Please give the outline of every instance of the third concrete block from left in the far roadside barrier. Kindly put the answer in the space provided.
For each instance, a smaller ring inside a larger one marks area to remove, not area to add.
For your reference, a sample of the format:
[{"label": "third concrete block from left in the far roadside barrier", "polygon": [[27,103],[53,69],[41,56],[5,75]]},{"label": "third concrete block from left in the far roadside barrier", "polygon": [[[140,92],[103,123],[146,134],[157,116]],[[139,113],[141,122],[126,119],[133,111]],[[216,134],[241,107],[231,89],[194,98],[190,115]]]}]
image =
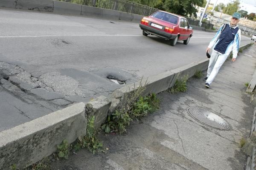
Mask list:
[{"label": "third concrete block from left in the far roadside barrier", "polygon": [[81,15],[81,5],[53,0],[53,12],[59,14]]}]

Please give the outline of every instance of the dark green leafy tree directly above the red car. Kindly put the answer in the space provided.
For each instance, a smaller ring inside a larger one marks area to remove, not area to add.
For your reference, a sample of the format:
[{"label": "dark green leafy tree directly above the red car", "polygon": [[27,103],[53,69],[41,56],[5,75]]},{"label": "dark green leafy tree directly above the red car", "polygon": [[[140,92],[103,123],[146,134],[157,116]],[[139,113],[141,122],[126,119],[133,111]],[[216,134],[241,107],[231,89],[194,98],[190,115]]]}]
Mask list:
[{"label": "dark green leafy tree directly above the red car", "polygon": [[163,8],[166,11],[187,16],[196,15],[197,9],[195,6],[202,6],[204,0],[166,0],[163,3]]}]

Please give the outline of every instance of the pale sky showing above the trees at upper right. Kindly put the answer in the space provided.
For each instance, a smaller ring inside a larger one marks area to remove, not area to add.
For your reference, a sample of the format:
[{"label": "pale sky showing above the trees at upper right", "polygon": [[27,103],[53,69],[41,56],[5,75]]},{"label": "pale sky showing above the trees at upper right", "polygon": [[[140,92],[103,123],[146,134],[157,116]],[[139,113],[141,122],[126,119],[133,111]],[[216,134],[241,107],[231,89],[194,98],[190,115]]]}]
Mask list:
[{"label": "pale sky showing above the trees at upper right", "polygon": [[[232,0],[210,0],[210,3],[231,3]],[[256,0],[240,0],[240,8],[239,10],[247,11],[248,14],[256,13]]]}]

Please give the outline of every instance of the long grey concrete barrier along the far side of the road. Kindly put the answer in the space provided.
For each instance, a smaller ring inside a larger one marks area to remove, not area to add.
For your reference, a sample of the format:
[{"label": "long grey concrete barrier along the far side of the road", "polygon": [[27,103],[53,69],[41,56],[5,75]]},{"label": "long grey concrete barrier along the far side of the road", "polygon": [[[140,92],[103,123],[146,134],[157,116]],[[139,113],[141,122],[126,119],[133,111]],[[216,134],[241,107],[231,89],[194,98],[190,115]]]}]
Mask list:
[{"label": "long grey concrete barrier along the far side of the road", "polygon": [[[85,17],[100,17],[105,19],[132,21],[136,23],[144,17],[143,15],[131,14],[128,12],[85,6],[58,0],[0,0],[0,8],[1,7],[53,12],[56,14],[82,15]],[[205,30],[204,27],[193,27],[195,30]]]}]

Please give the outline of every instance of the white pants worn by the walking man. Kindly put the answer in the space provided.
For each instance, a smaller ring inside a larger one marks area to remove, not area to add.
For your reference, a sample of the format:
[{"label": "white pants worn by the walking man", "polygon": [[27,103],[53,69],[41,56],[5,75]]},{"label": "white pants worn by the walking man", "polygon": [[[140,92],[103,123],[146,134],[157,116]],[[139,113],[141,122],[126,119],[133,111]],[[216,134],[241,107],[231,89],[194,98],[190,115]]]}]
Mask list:
[{"label": "white pants worn by the walking man", "polygon": [[226,61],[227,57],[228,54],[218,54],[216,51],[212,51],[212,55],[207,70],[208,79],[206,80],[206,82],[209,83],[209,85],[215,79],[219,69],[221,68],[221,65],[223,65],[223,63]]}]

